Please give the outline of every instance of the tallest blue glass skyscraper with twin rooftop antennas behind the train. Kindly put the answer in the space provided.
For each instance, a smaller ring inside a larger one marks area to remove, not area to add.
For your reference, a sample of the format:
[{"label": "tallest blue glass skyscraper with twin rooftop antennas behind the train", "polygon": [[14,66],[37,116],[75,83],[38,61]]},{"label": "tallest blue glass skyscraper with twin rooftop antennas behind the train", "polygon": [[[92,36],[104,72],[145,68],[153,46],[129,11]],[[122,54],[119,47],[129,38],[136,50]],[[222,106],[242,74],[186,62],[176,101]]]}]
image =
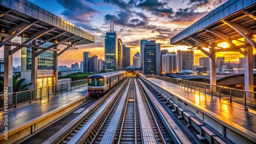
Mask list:
[{"label": "tallest blue glass skyscraper with twin rooftop antennas behind the train", "polygon": [[111,29],[105,36],[105,69],[116,71],[118,69],[118,41],[116,31]]}]

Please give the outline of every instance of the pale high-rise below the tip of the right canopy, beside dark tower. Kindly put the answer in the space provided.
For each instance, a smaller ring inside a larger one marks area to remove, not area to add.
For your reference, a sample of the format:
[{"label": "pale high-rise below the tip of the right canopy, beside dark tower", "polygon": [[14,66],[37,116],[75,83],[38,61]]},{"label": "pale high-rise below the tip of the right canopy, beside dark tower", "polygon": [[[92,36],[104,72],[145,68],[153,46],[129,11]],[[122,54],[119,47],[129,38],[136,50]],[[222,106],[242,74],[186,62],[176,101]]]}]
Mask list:
[{"label": "pale high-rise below the tip of the right canopy, beside dark tower", "polygon": [[165,71],[166,73],[177,73],[176,53],[165,54]]}]

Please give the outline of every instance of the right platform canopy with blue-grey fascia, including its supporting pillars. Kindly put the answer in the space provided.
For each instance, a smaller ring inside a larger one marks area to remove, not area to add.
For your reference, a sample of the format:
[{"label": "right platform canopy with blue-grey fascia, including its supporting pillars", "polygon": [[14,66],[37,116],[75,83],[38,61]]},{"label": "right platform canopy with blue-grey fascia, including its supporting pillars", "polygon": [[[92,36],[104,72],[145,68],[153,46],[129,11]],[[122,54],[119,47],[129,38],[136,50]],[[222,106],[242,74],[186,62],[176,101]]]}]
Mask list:
[{"label": "right platform canopy with blue-grey fascia, including its supporting pillars", "polygon": [[[253,91],[253,47],[256,48],[256,2],[230,0],[170,38],[210,58],[210,84],[216,85],[216,53],[237,52],[245,58],[245,90]],[[229,47],[223,48],[226,42]]]}]

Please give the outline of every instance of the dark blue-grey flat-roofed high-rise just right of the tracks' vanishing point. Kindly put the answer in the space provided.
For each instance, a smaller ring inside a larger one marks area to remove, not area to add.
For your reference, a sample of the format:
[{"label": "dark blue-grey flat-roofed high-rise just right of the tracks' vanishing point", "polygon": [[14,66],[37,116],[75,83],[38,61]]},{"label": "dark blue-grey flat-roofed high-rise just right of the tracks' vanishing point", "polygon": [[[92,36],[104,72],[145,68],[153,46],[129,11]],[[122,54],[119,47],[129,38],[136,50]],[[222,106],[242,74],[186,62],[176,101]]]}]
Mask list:
[{"label": "dark blue-grey flat-roofed high-rise just right of the tracks' vanishing point", "polygon": [[143,46],[143,73],[145,75],[161,74],[161,44],[155,40],[148,41]]}]

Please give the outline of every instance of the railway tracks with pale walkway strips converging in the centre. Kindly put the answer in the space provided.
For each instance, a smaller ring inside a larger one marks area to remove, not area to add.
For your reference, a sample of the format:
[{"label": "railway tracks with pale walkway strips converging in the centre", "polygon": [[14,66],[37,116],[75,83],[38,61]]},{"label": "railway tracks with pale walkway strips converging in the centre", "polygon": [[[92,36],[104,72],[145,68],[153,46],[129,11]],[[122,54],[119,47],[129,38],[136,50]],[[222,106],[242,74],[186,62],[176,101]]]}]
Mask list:
[{"label": "railway tracks with pale walkway strips converging in the centre", "polygon": [[44,143],[174,143],[137,79],[126,79]]}]

